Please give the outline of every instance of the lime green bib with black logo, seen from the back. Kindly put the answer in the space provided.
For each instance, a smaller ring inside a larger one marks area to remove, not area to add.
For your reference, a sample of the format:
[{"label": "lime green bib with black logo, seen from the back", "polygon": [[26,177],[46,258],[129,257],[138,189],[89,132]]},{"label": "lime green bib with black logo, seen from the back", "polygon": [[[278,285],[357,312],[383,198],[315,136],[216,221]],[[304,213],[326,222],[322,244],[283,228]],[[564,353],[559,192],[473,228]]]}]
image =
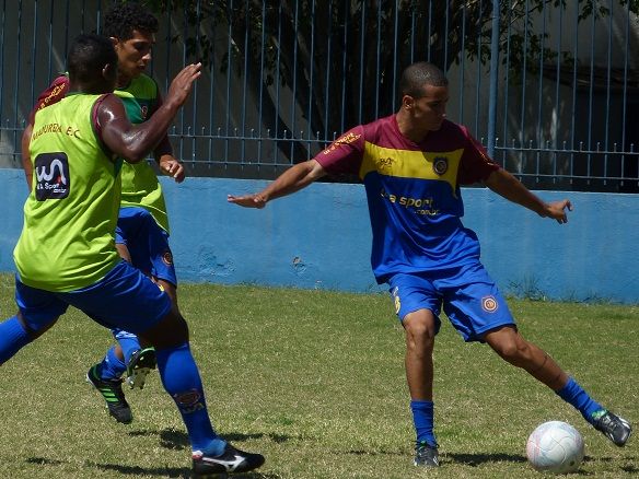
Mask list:
[{"label": "lime green bib with black logo, seen from the back", "polygon": [[66,292],[95,283],[119,261],[115,225],[119,161],[98,140],[100,95],[72,94],[35,115],[34,188],[13,252],[20,280]]}]

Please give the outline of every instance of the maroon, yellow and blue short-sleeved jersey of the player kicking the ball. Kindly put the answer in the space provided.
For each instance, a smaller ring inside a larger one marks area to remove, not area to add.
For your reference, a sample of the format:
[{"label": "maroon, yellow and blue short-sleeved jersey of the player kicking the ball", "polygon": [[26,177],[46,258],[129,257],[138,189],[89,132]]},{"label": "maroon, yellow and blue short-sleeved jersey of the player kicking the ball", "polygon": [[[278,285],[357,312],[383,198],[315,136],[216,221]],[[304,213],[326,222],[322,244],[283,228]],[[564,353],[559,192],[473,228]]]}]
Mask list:
[{"label": "maroon, yellow and blue short-sleeved jersey of the player kicking the ball", "polygon": [[362,179],[377,282],[479,257],[477,236],[461,221],[460,186],[486,179],[499,165],[465,127],[444,120],[418,144],[402,135],[392,115],[347,131],[315,160],[329,174]]}]

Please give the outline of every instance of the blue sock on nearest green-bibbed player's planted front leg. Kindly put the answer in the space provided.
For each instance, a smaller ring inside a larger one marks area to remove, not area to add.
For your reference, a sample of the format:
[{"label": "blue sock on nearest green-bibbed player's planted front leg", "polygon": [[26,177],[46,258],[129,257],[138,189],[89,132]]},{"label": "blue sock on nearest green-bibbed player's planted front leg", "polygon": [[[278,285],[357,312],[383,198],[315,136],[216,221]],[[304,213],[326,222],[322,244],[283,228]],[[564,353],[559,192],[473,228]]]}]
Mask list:
[{"label": "blue sock on nearest green-bibbed player's planted front leg", "polygon": [[193,451],[213,456],[222,454],[226,442],[211,425],[202,383],[188,343],[156,350],[155,357],[162,384],[182,414]]}]

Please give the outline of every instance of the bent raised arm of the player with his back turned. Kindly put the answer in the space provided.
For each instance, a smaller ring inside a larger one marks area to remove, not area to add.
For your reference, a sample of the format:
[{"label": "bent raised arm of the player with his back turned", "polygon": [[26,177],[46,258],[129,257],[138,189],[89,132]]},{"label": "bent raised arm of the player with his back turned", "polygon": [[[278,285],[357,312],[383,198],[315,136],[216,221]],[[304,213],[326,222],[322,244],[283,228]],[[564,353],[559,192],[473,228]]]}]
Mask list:
[{"label": "bent raised arm of the player with his back turned", "polygon": [[139,125],[131,125],[117,96],[106,95],[97,109],[105,144],[131,163],[146,159],[166,136],[175,114],[190,94],[193,83],[200,77],[200,68],[201,63],[191,63],[177,73],[171,83],[166,101],[148,121]]}]

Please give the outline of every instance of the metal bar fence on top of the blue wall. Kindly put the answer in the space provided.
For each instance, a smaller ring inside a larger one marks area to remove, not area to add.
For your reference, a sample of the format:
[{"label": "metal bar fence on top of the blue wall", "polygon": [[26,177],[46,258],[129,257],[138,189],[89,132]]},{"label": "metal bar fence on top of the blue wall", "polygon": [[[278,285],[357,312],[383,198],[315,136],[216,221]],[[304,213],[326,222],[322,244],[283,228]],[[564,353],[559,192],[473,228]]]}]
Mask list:
[{"label": "metal bar fence on top of the blue wall", "polygon": [[[112,3],[1,3],[1,165],[20,167],[34,100]],[[170,131],[190,174],[272,178],[392,114],[402,69],[428,60],[448,72],[449,118],[528,186],[639,192],[636,0],[149,3],[159,83],[206,65]]]}]

